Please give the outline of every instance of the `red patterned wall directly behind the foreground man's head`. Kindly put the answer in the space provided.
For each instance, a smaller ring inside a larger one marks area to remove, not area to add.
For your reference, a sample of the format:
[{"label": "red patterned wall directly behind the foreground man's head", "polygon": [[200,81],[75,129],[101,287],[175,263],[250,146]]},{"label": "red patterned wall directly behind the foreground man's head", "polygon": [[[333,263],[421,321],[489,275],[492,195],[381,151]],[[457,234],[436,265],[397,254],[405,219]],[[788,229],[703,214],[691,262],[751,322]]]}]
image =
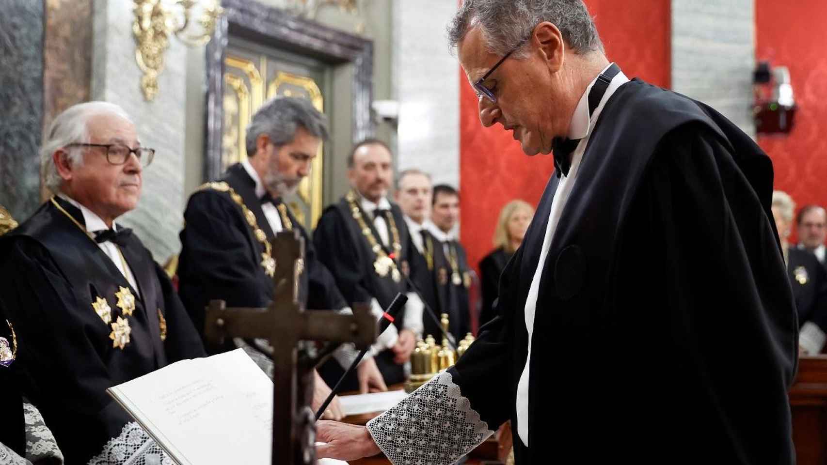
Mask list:
[{"label": "red patterned wall directly behind the foreground man's head", "polygon": [[[606,54],[629,78],[662,87],[671,73],[669,0],[586,0]],[[498,126],[484,128],[477,99],[460,69],[461,240],[477,266],[493,249],[500,209],[514,198],[537,205],[554,170],[551,155],[528,158],[519,142]]]}]

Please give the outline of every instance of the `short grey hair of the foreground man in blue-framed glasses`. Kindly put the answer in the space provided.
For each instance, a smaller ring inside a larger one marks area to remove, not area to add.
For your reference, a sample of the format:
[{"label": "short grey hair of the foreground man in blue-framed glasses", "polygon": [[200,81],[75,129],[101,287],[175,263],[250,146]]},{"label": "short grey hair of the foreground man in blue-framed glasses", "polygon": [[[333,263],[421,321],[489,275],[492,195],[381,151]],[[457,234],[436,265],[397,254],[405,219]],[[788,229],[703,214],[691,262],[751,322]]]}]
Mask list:
[{"label": "short grey hair of the foreground man in blue-framed glasses", "polygon": [[[448,25],[448,40],[455,49],[468,31],[480,26],[485,48],[505,55],[543,21],[557,26],[575,53],[605,53],[595,21],[582,0],[465,0]],[[523,45],[513,56],[524,58],[525,50]]]}]

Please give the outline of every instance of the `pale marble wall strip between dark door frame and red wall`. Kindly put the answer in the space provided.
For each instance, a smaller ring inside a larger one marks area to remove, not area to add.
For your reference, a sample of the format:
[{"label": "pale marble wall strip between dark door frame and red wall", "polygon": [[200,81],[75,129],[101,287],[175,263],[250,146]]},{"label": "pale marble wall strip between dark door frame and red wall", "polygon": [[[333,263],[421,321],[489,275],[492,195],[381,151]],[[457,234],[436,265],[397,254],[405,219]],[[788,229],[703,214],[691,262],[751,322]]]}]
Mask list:
[{"label": "pale marble wall strip between dark door frame and red wall", "polygon": [[460,70],[445,27],[457,2],[394,3],[394,95],[399,102],[399,169],[460,187]]}]

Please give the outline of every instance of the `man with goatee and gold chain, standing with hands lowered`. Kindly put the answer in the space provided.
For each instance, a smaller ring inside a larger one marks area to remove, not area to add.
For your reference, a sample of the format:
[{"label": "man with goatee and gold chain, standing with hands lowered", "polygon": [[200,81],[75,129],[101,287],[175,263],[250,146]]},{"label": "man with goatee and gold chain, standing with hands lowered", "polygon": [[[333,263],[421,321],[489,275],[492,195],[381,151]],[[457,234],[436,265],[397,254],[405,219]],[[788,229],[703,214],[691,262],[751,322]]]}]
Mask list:
[{"label": "man with goatee and gold chain, standing with hands lowered", "polygon": [[[373,347],[388,385],[404,381],[404,364],[423,330],[423,303],[408,283],[416,266],[410,261],[414,245],[399,206],[385,197],[391,160],[390,149],[380,140],[356,144],[347,159],[351,191],[325,209],[313,233],[319,260],[351,305],[368,303],[378,317],[397,293],[408,293],[408,303]],[[331,363],[320,372],[328,382],[342,375],[341,368]],[[355,380],[351,377],[344,386],[355,387]]]}]

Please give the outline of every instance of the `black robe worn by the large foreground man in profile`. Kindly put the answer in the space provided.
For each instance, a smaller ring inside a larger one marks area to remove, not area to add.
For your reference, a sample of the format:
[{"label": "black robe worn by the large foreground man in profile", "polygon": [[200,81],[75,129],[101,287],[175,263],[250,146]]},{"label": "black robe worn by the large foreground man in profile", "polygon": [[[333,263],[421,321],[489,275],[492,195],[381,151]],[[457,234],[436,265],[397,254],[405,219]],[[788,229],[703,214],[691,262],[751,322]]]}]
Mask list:
[{"label": "black robe worn by the large foreground man in profile", "polygon": [[609,98],[543,268],[530,447],[515,398],[556,176],[495,320],[449,370],[490,429],[512,420],[517,463],[795,463],[798,324],[772,176],[758,145],[700,102],[638,79]]}]

